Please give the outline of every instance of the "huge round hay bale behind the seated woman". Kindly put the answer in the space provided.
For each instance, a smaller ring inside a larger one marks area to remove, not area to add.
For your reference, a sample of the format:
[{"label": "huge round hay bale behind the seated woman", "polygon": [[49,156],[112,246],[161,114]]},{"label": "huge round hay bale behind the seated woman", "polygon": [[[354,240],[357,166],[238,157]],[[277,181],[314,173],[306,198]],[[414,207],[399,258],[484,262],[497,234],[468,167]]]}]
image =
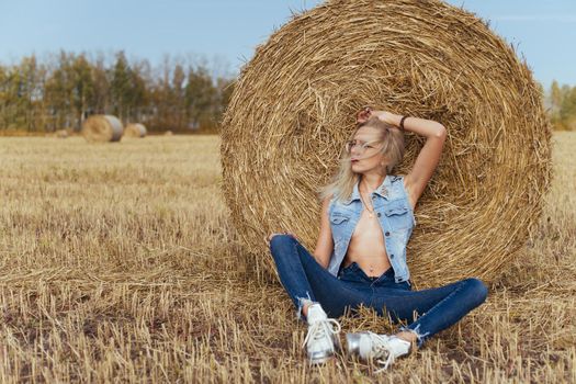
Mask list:
[{"label": "huge round hay bale behind the seated woman", "polygon": [[[512,47],[436,0],[327,1],[257,48],[234,89],[221,148],[225,200],[246,249],[269,268],[269,233],[291,230],[314,249],[316,190],[366,104],[448,129],[407,250],[418,286],[493,281],[539,219],[551,126]],[[408,173],[423,143],[407,133],[393,173]]]}]

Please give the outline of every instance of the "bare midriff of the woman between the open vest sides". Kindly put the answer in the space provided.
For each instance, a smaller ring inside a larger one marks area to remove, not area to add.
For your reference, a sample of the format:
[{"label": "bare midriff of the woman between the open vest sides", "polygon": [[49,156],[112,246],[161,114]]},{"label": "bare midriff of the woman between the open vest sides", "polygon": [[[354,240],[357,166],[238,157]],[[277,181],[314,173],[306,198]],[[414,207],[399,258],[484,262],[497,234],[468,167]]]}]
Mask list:
[{"label": "bare midriff of the woman between the open vest sides", "polygon": [[355,262],[368,276],[376,278],[391,268],[384,236],[376,215],[362,211],[354,228],[342,266]]}]

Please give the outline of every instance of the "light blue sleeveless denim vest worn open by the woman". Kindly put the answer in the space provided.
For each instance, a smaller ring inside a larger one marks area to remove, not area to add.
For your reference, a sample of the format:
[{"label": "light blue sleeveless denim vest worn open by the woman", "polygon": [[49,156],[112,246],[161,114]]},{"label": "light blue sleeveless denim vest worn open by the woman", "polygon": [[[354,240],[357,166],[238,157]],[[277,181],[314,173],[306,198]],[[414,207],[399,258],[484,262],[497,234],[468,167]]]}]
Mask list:
[{"label": "light blue sleeveless denim vest worn open by the woman", "polygon": [[[394,269],[394,279],[396,283],[408,281],[410,272],[406,263],[406,245],[416,225],[416,218],[404,189],[404,176],[387,174],[382,184],[372,192],[372,205],[382,227],[386,253]],[[335,276],[338,275],[346,257],[362,210],[358,183],[348,200],[338,201],[332,197],[330,201],[328,213],[334,250],[328,272]]]}]

